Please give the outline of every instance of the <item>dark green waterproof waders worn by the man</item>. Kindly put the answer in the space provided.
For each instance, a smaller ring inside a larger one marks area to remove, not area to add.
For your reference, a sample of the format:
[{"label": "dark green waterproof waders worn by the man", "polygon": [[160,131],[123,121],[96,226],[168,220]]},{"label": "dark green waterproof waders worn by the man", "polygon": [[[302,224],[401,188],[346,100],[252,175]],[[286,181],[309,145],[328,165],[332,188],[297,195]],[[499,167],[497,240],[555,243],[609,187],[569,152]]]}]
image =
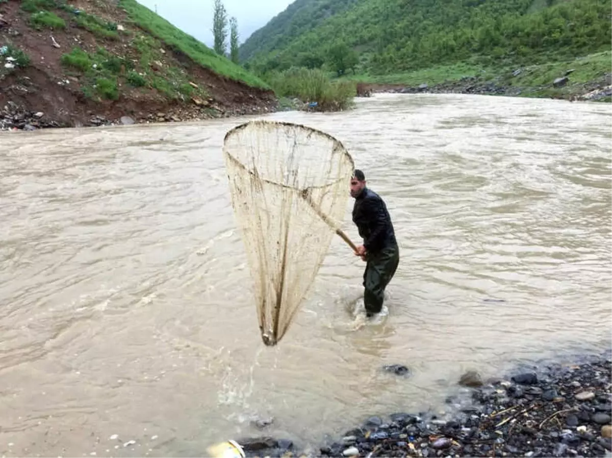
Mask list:
[{"label": "dark green waterproof waders worn by the man", "polygon": [[400,248],[387,246],[376,253],[368,253],[364,271],[364,304],[368,313],[378,313],[383,308],[384,290],[395,275],[400,263]]}]

